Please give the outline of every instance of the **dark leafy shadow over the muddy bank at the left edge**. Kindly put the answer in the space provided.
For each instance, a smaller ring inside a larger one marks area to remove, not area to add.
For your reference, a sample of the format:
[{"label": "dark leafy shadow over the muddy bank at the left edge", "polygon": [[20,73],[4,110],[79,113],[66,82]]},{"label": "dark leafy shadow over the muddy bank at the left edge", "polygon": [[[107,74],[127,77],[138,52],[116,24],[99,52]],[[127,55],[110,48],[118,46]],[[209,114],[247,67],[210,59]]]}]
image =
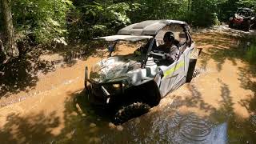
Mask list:
[{"label": "dark leafy shadow over the muddy bank at the left edge", "polygon": [[0,66],[0,98],[4,95],[27,91],[36,86],[38,72],[46,74],[54,70],[54,62],[40,60],[41,52],[14,58]]}]

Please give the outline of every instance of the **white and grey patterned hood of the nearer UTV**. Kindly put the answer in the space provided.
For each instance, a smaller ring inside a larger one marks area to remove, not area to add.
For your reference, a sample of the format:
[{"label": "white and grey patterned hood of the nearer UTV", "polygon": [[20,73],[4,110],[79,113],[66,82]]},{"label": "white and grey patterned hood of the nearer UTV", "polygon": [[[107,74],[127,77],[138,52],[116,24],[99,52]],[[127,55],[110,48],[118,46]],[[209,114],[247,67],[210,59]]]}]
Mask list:
[{"label": "white and grey patterned hood of the nearer UTV", "polygon": [[126,81],[136,85],[142,80],[154,78],[157,65],[149,60],[146,66],[150,70],[142,69],[140,62],[110,57],[92,67],[90,79],[98,83]]}]

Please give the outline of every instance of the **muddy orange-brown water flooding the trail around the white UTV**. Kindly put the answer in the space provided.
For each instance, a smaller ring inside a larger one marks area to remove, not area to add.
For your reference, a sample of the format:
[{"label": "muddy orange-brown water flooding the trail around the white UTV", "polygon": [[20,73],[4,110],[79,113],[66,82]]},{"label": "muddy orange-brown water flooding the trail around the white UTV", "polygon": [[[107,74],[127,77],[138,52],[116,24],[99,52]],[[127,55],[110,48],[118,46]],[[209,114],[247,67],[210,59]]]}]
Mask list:
[{"label": "muddy orange-brown water flooding the trail around the white UTV", "polygon": [[226,28],[194,34],[203,48],[198,75],[122,126],[83,94],[84,67],[98,55],[39,74],[33,89],[0,100],[15,101],[0,108],[1,143],[256,143],[256,67],[243,60],[244,35]]}]

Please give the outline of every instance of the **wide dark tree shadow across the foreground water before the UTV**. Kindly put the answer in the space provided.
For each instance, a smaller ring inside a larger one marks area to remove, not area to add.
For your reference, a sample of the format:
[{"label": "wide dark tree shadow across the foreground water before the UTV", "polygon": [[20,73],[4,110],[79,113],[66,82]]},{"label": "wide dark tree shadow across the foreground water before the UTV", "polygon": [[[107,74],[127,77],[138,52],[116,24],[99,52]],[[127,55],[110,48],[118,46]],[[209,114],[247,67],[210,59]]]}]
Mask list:
[{"label": "wide dark tree shadow across the foreground water before the UTV", "polygon": [[[255,142],[253,135],[248,135],[254,134],[249,121],[232,113],[233,103],[225,83],[222,83],[220,110],[206,104],[195,86],[191,85],[190,89],[193,100],[182,102],[175,98],[173,104],[164,109],[151,110],[122,126],[114,126],[106,111],[90,106],[83,91],[70,94],[71,98],[65,102],[63,119],[55,112],[26,117],[10,114],[0,130],[0,139],[2,143],[225,143],[228,126],[229,139],[232,139],[229,142]],[[210,112],[210,118],[180,113],[182,106],[206,110]],[[62,129],[56,134],[58,127]],[[238,130],[245,135],[238,134]]]}]

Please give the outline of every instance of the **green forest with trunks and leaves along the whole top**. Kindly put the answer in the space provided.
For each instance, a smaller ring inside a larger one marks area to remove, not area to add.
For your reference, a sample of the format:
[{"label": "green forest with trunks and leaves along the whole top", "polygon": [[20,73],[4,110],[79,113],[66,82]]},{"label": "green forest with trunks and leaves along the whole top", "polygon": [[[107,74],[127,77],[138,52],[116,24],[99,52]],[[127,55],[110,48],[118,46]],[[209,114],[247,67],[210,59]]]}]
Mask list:
[{"label": "green forest with trunks and leaves along the whole top", "polygon": [[238,7],[256,9],[254,0],[1,0],[0,63],[53,43],[90,44],[146,19],[178,19],[192,27],[227,22]]}]

